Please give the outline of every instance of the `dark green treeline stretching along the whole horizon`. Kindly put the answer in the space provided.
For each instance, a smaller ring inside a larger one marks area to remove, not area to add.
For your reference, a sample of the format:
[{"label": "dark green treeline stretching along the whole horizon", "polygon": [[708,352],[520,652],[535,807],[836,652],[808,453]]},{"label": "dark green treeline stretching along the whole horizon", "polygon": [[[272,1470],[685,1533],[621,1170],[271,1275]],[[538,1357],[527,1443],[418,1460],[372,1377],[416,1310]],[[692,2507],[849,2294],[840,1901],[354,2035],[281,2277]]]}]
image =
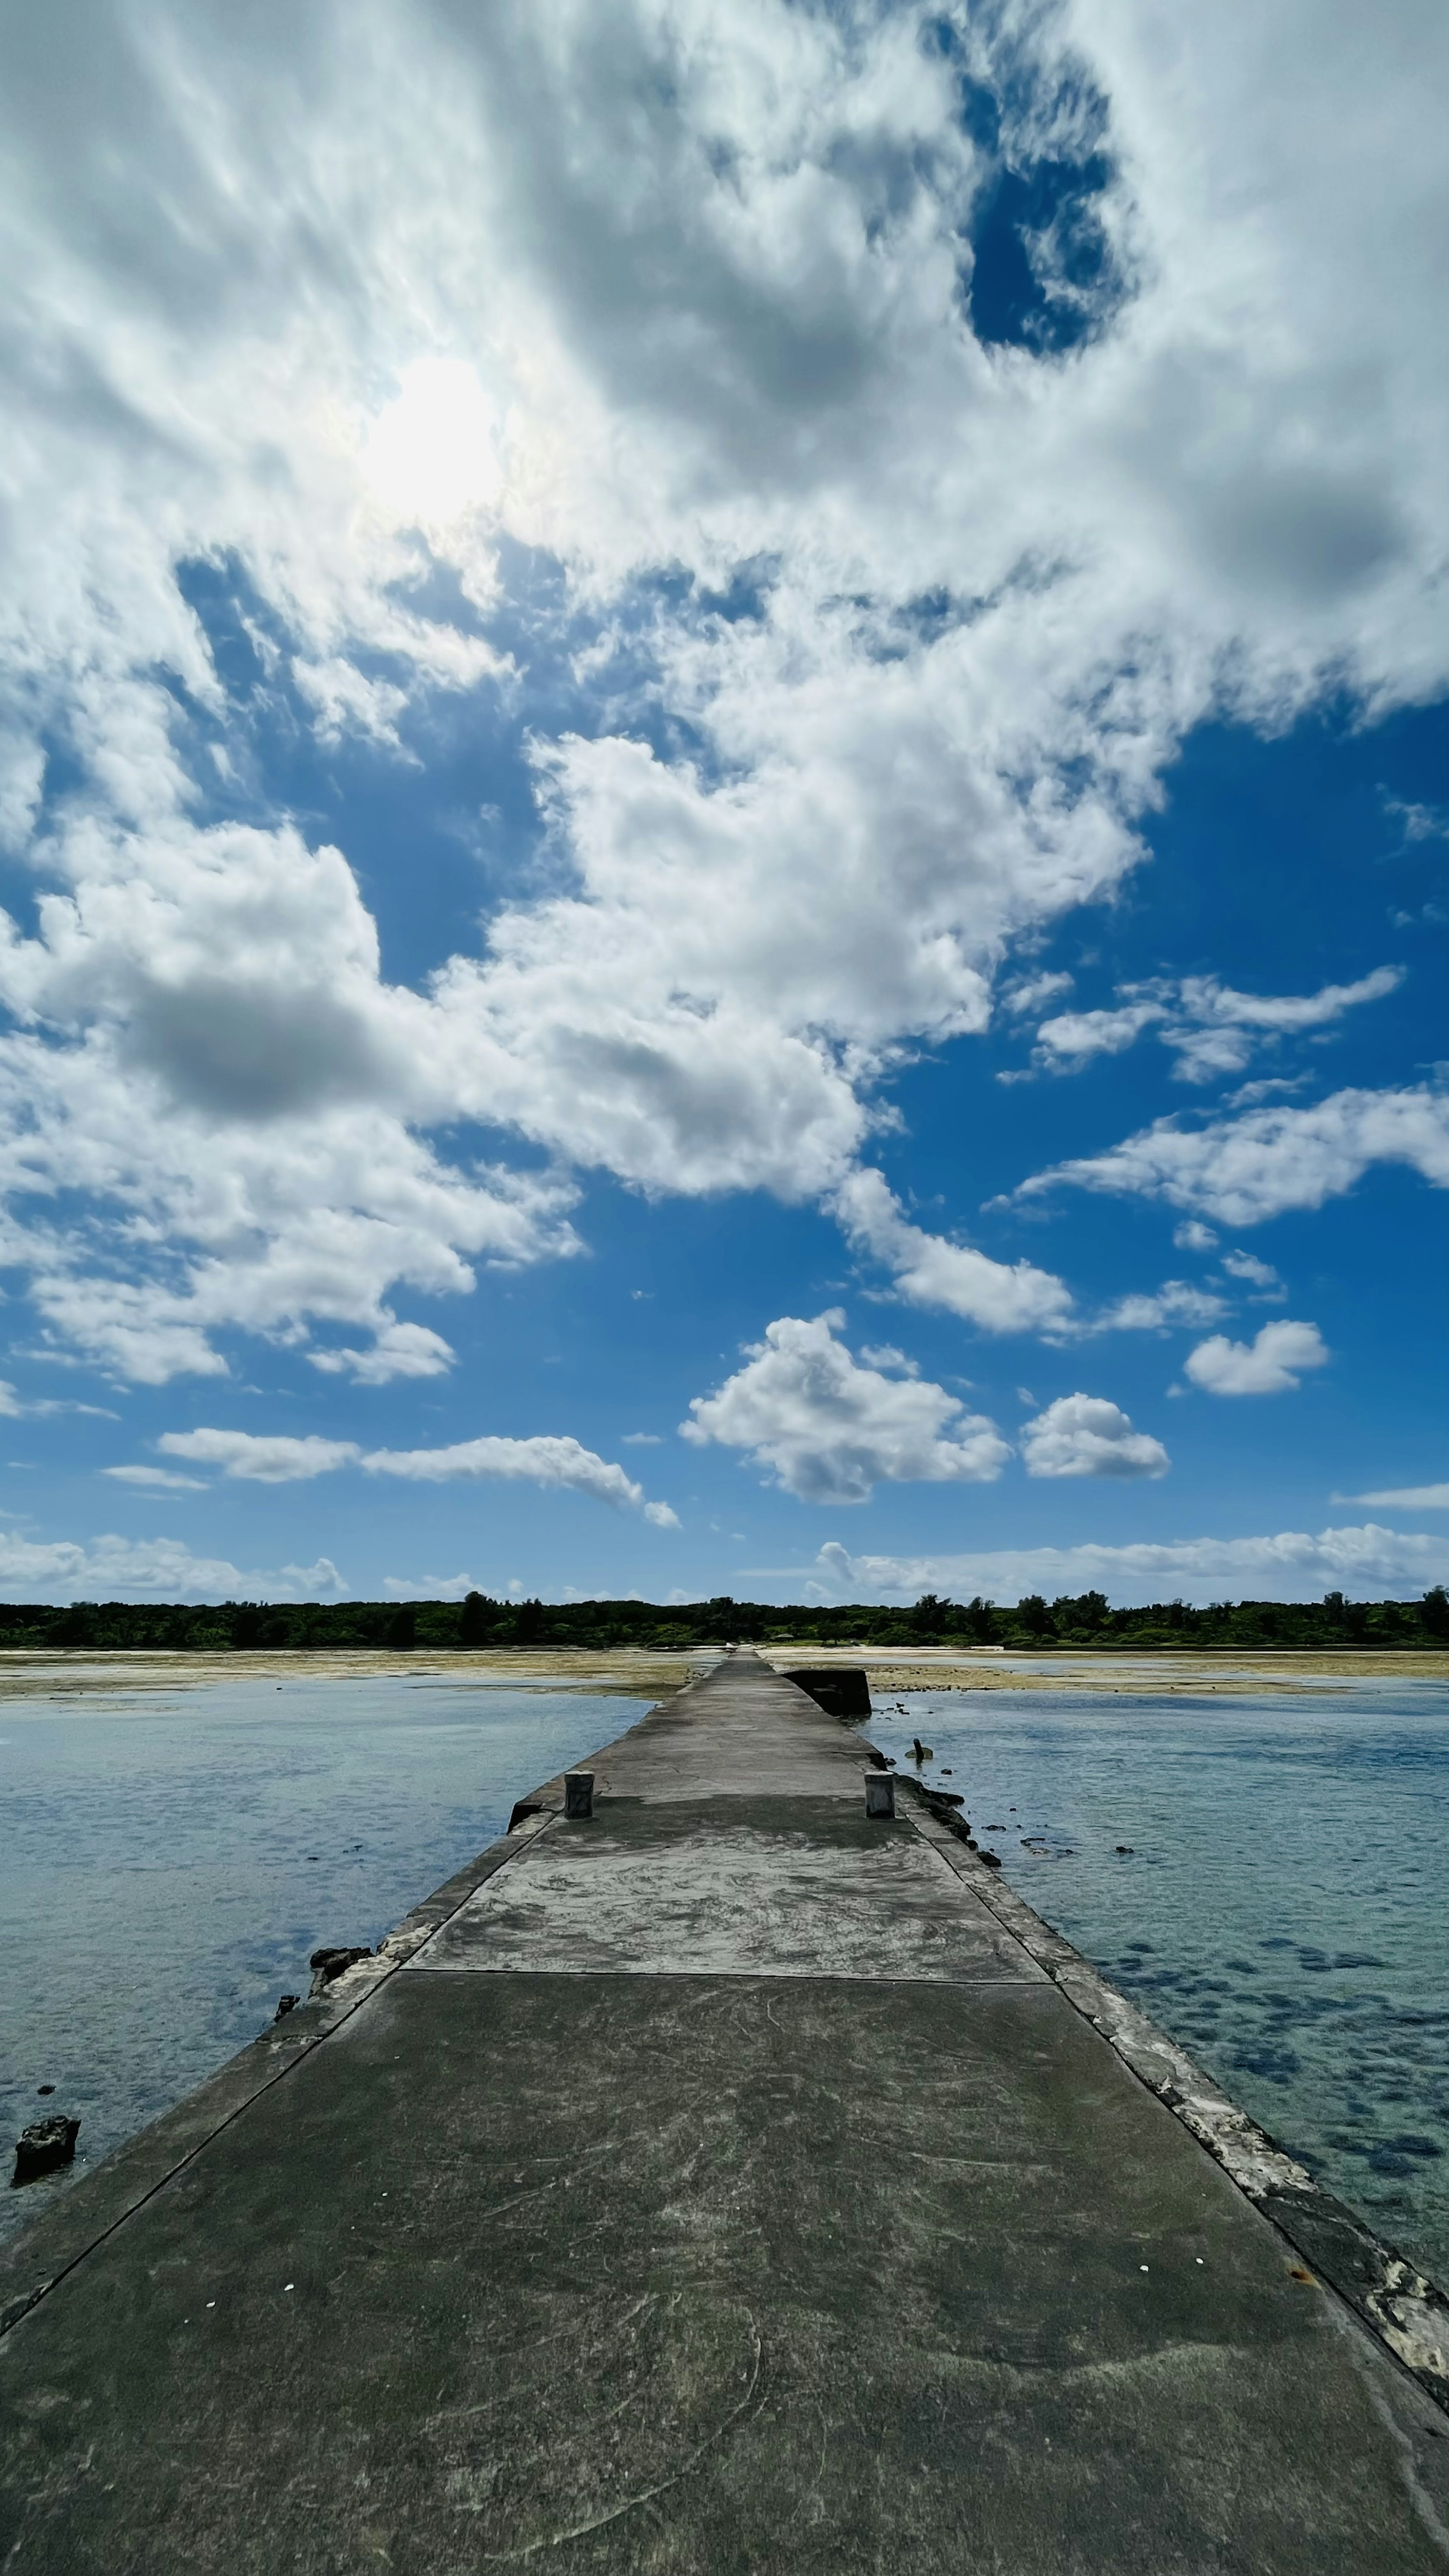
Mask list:
[{"label": "dark green treeline stretching along the whole horizon", "polygon": [[681,1651],[724,1638],[802,1646],[1441,1646],[1449,1643],[1444,1584],[1418,1602],[1152,1602],[1111,1610],[1106,1592],[1029,1592],[1016,1607],[949,1602],[926,1592],[913,1610],[869,1605],[735,1602],[0,1602],[0,1649],[152,1646],[191,1654],[258,1649],[335,1651],[374,1646],[394,1654],[490,1646],[657,1646]]}]

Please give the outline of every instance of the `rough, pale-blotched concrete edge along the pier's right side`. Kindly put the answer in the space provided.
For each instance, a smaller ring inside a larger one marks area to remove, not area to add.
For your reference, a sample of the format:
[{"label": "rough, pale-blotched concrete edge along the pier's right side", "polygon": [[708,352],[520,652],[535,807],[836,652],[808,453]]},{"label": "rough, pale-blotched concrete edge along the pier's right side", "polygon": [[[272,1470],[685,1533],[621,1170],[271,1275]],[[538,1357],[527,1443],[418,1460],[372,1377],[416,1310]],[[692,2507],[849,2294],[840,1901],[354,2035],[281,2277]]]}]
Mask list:
[{"label": "rough, pale-blotched concrete edge along the pier's right side", "polygon": [[[905,1788],[915,1790],[923,1803],[928,1793],[915,1780],[905,1780]],[[941,1819],[931,1811],[931,1821],[941,1832]],[[998,1901],[998,1883],[987,1870],[949,1847],[949,1829],[941,1839],[931,1834],[920,1816],[910,1816],[913,1829],[920,1839],[941,1855],[954,1878],[962,1880],[980,1896],[990,1914],[1000,1922],[1026,1958],[1034,1958],[1039,1968],[1047,1971],[1057,1994],[1067,1999],[1073,2012],[1088,2022],[1098,2038],[1106,2040],[1111,2053],[1127,2066],[1127,2074],[1152,2094],[1165,2110],[1171,2110],[1178,2128],[1186,2128],[1189,2138],[1212,2156],[1212,2161],[1227,2174],[1232,2187],[1243,2192],[1245,2200],[1269,2221],[1269,2226],[1302,2254],[1323,2285],[1369,2329],[1377,2344],[1392,2354],[1400,2370],[1434,2398],[1439,2409],[1449,2414],[1449,2298],[1439,2290],[1418,2264],[1410,2264],[1403,2254],[1377,2236],[1348,2202],[1325,2192],[1315,2177],[1297,2164],[1297,2159],[1284,2156],[1284,2151],[1258,2128],[1248,2112],[1238,2110],[1230,2094],[1207,2076],[1186,2048],[1178,2045],[1165,2030],[1158,2030],[1147,2014],[1111,1986],[1101,1968],[1093,1968],[1080,1950],[1075,1950],[1062,1932],[1055,1932],[1013,1886],[1003,1886],[1011,1896],[1011,1909]],[[1026,1929],[1011,1917],[1021,1911],[1026,1917]],[[1034,1940],[1031,1935],[1039,1935]],[[1070,1978],[1070,1984],[1067,1984]],[[1080,1991],[1073,1991],[1078,1986]],[[1106,2007],[1106,2012],[1101,2009]],[[1109,2017],[1119,2014],[1116,2025]],[[1178,2084],[1155,2084],[1142,2066],[1134,2063],[1134,2045],[1155,2048],[1160,2056],[1181,2071],[1191,2089],[1178,2092]],[[1212,2117],[1207,2112],[1212,2110]],[[1196,2112],[1196,2115],[1194,2115]],[[1258,2179],[1250,2179],[1253,2166],[1258,2166]],[[1266,2166],[1266,2172],[1263,2172]],[[1276,2174],[1274,2166],[1284,2172]],[[1297,2221],[1297,2223],[1294,2223]],[[1343,2259],[1336,2249],[1325,2246],[1325,2236],[1341,2236],[1348,2241],[1348,2257],[1359,2257],[1359,2264],[1372,2275],[1369,2282],[1356,2277],[1354,2259]]]}]

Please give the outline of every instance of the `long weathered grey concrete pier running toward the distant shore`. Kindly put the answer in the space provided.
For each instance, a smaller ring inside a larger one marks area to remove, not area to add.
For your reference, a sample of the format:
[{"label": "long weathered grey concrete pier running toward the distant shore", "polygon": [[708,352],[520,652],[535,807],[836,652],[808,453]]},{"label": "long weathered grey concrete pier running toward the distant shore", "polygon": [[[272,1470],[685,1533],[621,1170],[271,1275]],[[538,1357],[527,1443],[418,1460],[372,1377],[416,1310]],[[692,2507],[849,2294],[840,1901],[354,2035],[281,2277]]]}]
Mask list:
[{"label": "long weathered grey concrete pier running toward the distant shore", "polygon": [[859,1736],[737,1654],[588,1770],[5,2251],[0,2568],[1449,2566],[1449,2419]]}]

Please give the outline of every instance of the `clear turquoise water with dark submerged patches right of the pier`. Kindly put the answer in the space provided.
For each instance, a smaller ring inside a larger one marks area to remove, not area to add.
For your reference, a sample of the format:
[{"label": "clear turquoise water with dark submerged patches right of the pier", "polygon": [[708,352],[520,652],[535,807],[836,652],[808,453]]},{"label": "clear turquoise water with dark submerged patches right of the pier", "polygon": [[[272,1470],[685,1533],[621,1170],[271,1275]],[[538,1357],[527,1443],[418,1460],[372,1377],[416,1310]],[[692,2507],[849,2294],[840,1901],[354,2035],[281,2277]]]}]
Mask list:
[{"label": "clear turquoise water with dark submerged patches right of the pier", "polygon": [[871,1739],[902,1770],[913,1734],[933,1747],[923,1775],[964,1793],[1036,1914],[1449,2282],[1444,1692],[892,1705]]}]

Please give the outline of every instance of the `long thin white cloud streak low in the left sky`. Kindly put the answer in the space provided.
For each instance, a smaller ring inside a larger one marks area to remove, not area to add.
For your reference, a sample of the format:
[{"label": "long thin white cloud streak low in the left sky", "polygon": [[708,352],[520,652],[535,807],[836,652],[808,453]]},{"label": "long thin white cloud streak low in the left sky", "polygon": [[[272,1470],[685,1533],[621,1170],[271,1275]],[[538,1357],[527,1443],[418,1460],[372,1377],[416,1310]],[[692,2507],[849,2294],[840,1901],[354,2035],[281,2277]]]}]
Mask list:
[{"label": "long thin white cloud streak low in the left sky", "polygon": [[[531,1440],[456,1440],[449,1448],[418,1450],[364,1450],[356,1440],[320,1440],[317,1435],[289,1437],[284,1432],[162,1432],[157,1448],[165,1458],[191,1458],[199,1466],[217,1466],[224,1476],[248,1484],[304,1484],[312,1476],[330,1476],[343,1466],[361,1466],[369,1476],[405,1476],[413,1484],[451,1484],[459,1479],[492,1476],[505,1484],[539,1484],[570,1494],[590,1494],[616,1510],[637,1510],[660,1530],[678,1530],[678,1517],[668,1502],[647,1502],[642,1484],[608,1458],[583,1448],[580,1440],[541,1432]],[[134,1479],[139,1481],[139,1479]]]}]

